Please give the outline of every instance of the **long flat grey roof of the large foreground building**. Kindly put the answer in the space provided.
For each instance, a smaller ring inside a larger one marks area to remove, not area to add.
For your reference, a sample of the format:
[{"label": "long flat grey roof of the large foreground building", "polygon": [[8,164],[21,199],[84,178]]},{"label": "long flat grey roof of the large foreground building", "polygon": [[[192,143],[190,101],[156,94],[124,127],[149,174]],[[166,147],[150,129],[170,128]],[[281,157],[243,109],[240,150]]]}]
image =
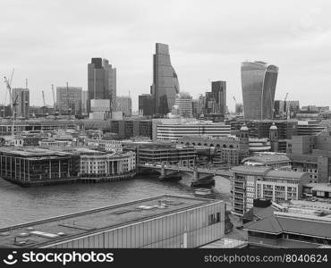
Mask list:
[{"label": "long flat grey roof of the large foreground building", "polygon": [[[0,229],[0,247],[43,247],[64,239],[73,239],[100,230],[110,230],[126,224],[220,201],[198,197],[164,195],[119,205],[109,205],[37,222],[22,223]],[[24,240],[27,240],[27,242],[20,245],[19,242]]]}]

